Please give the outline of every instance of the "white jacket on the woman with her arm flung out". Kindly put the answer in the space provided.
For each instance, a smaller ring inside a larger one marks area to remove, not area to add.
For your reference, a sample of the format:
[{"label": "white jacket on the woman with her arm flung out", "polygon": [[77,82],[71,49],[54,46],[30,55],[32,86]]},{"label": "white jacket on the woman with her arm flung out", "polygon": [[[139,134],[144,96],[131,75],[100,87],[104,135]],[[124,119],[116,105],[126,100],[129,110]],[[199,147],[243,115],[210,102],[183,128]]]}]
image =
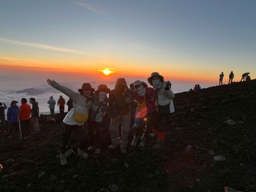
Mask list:
[{"label": "white jacket on the woman with her arm flung out", "polygon": [[76,122],[75,118],[74,118],[74,110],[76,109],[76,113],[79,113],[81,115],[86,115],[87,112],[89,111],[89,108],[92,104],[92,101],[89,100],[87,102],[86,98],[84,97],[84,95],[80,94],[80,93],[76,93],[74,91],[72,91],[71,89],[60,85],[57,82],[54,82],[53,87],[57,90],[59,90],[60,92],[63,92],[65,95],[67,95],[71,100],[73,100],[73,105],[74,108],[72,108],[68,114],[65,116],[65,118],[63,119],[63,123],[68,124],[68,125],[78,125],[78,126],[82,126],[84,125],[84,123],[78,123]]}]

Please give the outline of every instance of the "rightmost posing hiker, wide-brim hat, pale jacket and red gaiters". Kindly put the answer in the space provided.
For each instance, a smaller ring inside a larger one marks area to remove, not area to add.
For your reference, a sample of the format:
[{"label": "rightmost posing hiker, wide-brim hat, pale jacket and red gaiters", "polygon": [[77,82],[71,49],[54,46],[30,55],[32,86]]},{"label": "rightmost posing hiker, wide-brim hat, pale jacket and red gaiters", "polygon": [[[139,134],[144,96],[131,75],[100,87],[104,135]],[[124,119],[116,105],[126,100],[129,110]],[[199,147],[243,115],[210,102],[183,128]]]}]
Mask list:
[{"label": "rightmost posing hiker, wide-brim hat, pale jacket and red gaiters", "polygon": [[164,82],[164,77],[157,72],[153,72],[148,77],[148,83],[153,85],[156,93],[156,111],[157,116],[155,119],[154,128],[158,131],[158,140],[153,148],[161,149],[164,146],[165,127],[170,119],[170,114],[174,112],[172,99],[175,97],[171,90],[171,82]]}]

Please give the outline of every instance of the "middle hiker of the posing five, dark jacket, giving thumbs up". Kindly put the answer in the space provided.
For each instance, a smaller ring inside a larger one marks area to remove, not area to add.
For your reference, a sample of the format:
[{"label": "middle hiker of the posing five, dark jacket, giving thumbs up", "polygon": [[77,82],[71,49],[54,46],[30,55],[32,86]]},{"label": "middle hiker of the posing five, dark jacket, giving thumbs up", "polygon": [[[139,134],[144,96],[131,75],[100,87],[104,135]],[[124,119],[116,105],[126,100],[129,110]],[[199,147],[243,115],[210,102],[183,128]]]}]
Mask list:
[{"label": "middle hiker of the posing five, dark jacket, giving thumbs up", "polygon": [[[131,123],[131,111],[130,106],[136,105],[134,101],[136,99],[134,92],[127,87],[124,78],[118,78],[116,80],[115,89],[111,90],[108,99],[108,108],[111,114],[110,121],[110,137],[113,140],[113,145],[110,145],[111,150],[115,150],[119,146],[121,153],[125,154],[126,146],[128,143],[128,137],[130,133],[130,123]],[[122,134],[119,145],[119,134],[118,126],[119,120],[122,121]]]}]

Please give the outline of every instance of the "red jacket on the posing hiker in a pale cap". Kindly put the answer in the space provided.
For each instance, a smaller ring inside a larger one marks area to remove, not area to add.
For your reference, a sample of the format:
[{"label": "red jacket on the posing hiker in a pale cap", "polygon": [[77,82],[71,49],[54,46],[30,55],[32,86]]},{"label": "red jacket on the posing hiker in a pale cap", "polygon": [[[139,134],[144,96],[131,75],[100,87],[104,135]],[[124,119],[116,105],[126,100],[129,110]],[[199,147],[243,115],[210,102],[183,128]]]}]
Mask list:
[{"label": "red jacket on the posing hiker in a pale cap", "polygon": [[[148,85],[145,83],[145,82],[142,82],[143,86],[145,87],[146,89],[146,93],[145,93],[145,103],[147,105],[147,109],[148,109],[148,113],[153,113],[154,111],[156,111],[156,105],[155,105],[155,102],[156,102],[156,94],[154,92],[154,89],[151,88],[151,87],[148,87]],[[139,101],[139,103],[142,103],[143,102],[143,97],[140,97],[139,94],[137,93],[136,90],[133,91],[136,95],[136,99]],[[149,95],[151,97],[153,97],[153,100],[148,100],[146,95]]]}]

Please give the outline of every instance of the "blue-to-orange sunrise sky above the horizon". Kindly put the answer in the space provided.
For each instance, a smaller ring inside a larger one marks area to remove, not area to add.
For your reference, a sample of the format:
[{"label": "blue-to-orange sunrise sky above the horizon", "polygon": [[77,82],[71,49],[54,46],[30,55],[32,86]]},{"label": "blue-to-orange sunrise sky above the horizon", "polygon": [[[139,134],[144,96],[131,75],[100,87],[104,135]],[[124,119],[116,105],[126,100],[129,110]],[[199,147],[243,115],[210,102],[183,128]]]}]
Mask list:
[{"label": "blue-to-orange sunrise sky above the horizon", "polygon": [[191,88],[217,85],[222,71],[224,83],[231,70],[234,81],[245,72],[254,79],[255,7],[250,0],[1,1],[1,87],[47,78],[146,81],[154,71]]}]

